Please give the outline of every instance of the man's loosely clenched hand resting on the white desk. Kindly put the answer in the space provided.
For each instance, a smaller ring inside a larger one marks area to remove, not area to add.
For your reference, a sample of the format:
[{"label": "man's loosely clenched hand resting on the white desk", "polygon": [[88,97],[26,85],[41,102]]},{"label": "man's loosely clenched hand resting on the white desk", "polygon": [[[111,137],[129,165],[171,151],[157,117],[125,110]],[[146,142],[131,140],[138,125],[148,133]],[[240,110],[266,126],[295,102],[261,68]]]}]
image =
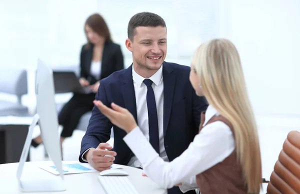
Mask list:
[{"label": "man's loosely clenched hand resting on the white desk", "polygon": [[111,145],[108,143],[100,143],[97,148],[89,149],[85,154],[85,158],[96,170],[102,171],[110,169],[110,166],[115,159],[114,156],[116,156],[115,151],[106,150],[111,148]]}]

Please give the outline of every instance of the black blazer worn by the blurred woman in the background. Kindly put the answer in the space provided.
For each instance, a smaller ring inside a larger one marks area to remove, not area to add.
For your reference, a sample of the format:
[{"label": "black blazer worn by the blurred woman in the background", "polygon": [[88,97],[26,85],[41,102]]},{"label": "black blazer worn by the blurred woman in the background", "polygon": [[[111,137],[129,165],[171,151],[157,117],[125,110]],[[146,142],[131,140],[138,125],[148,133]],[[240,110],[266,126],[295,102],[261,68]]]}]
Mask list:
[{"label": "black blazer worn by the blurred woman in the background", "polygon": [[[90,74],[90,64],[93,54],[93,44],[85,44],[80,53],[80,77],[84,77],[90,84],[98,81]],[[123,54],[120,45],[106,41],[103,47],[100,79],[124,68]]]}]

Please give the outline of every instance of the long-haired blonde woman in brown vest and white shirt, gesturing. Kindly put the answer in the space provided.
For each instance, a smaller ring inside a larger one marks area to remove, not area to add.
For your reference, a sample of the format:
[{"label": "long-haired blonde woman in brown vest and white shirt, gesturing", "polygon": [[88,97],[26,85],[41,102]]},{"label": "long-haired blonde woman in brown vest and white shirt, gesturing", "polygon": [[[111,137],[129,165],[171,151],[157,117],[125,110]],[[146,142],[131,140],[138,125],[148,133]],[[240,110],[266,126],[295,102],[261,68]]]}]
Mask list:
[{"label": "long-haired blonde woman in brown vest and white shirt, gesturing", "polygon": [[201,44],[192,56],[189,79],[210,105],[201,114],[199,133],[171,162],[159,157],[127,109],[94,104],[128,133],[124,141],[161,187],[179,185],[182,192],[198,187],[201,194],[259,193],[258,135],[235,46],[227,39]]}]

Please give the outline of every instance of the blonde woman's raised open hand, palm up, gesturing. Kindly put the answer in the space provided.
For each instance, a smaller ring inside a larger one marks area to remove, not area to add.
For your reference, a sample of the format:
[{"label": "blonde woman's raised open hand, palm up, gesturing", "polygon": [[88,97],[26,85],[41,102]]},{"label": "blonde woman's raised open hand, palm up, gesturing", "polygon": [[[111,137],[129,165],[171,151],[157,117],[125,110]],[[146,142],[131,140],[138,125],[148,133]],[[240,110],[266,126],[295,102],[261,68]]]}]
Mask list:
[{"label": "blonde woman's raised open hand, palm up, gesturing", "polygon": [[112,124],[125,130],[127,133],[137,126],[134,117],[126,108],[122,108],[113,102],[111,103],[112,108],[109,108],[100,100],[94,100],[93,103],[98,107],[102,114],[104,114],[110,120]]}]

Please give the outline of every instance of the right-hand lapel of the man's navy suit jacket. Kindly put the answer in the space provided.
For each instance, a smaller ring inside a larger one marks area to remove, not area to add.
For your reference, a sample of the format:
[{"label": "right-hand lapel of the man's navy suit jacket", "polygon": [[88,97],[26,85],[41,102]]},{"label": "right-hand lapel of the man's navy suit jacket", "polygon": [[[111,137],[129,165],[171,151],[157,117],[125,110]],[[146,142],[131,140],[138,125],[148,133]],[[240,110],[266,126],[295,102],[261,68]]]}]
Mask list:
[{"label": "right-hand lapel of the man's navy suit jacket", "polygon": [[172,73],[172,66],[167,63],[162,63],[162,76],[163,76],[163,136],[165,136],[168,121],[170,118],[173,95],[175,88],[176,76]]}]

